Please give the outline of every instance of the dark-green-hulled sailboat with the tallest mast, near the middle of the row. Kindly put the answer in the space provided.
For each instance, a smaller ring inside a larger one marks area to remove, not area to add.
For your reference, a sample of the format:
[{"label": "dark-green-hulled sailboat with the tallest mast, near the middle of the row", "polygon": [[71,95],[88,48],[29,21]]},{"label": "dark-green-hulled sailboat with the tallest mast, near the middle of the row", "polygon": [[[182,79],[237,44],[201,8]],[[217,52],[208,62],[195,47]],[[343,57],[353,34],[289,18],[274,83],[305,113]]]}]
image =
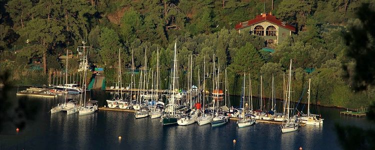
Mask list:
[{"label": "dark-green-hulled sailboat with the tallest mast, near the middle of the row", "polygon": [[177,49],[176,49],[177,41],[174,42],[174,56],[173,56],[173,67],[172,67],[172,72],[171,72],[171,77],[172,77],[172,85],[170,87],[170,96],[167,100],[167,105],[165,107],[165,113],[162,116],[162,122],[163,125],[167,124],[174,124],[177,123],[177,116],[175,114],[175,98],[176,98],[176,93],[178,92],[176,88],[176,79],[177,77]]}]

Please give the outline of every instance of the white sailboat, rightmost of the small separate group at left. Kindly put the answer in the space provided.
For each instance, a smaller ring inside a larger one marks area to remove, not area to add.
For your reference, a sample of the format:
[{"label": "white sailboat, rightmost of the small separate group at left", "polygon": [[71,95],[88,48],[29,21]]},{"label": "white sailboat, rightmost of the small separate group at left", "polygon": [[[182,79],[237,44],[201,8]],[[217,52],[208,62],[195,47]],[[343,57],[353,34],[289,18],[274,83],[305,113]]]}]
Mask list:
[{"label": "white sailboat, rightmost of the small separate group at left", "polygon": [[[88,52],[87,52],[88,53]],[[88,62],[88,59],[86,57],[85,59],[85,65],[87,65],[87,62]],[[83,89],[86,89],[86,79],[87,79],[87,67],[84,67],[84,74],[83,74],[83,86],[84,87]],[[84,115],[84,114],[90,114],[90,113],[93,113],[97,110],[97,101],[88,101],[86,103],[86,91],[87,90],[84,90],[82,93],[81,93],[81,98],[80,98],[80,102],[82,102],[82,98],[83,98],[83,106],[81,106],[79,108],[79,115]]]}]

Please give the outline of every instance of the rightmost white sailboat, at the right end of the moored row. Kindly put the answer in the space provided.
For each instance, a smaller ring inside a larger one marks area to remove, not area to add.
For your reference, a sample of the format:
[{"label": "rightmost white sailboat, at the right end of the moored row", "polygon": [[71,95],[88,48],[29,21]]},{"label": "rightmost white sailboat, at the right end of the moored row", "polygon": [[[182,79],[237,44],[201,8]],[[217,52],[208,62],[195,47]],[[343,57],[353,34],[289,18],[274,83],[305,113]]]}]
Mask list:
[{"label": "rightmost white sailboat, at the right end of the moored row", "polygon": [[323,124],[322,118],[316,118],[316,116],[319,116],[317,114],[311,114],[310,113],[310,84],[311,84],[311,78],[308,79],[308,102],[307,102],[307,114],[302,114],[302,116],[298,117],[298,120],[301,123],[306,123],[306,125],[321,125]]}]

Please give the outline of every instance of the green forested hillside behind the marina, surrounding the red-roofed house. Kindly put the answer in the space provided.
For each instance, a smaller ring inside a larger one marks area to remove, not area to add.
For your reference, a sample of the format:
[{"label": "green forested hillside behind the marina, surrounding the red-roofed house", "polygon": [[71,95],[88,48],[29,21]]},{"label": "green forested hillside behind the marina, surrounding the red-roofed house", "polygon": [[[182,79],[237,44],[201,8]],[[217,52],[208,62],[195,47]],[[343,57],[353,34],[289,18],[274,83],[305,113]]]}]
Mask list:
[{"label": "green forested hillside behind the marina, surrounding the red-roofed house", "polygon": [[[348,52],[350,44],[345,38],[348,32],[366,27],[363,25],[366,13],[358,13],[358,9],[366,7],[368,12],[374,12],[372,0],[1,0],[0,3],[1,74],[9,71],[14,86],[47,84],[48,72],[64,71],[66,62],[58,56],[66,49],[76,55],[77,46],[84,40],[92,46],[89,61],[104,68],[107,86],[117,80],[118,49],[121,49],[124,86],[130,82],[132,51],[134,67],[141,69],[147,47],[147,66],[153,70],[158,51],[160,85],[166,89],[176,41],[179,87],[183,89],[187,88],[191,55],[193,84],[197,84],[198,76],[200,80],[206,76],[205,89],[209,90],[215,62],[220,68],[221,86],[224,86],[223,72],[227,71],[230,94],[240,94],[241,78],[246,73],[251,77],[253,95],[259,94],[261,75],[262,96],[271,97],[273,75],[275,96],[282,98],[283,73],[287,73],[291,59],[294,101],[306,102],[309,78],[311,99],[316,104],[359,108],[375,99],[374,84],[358,83],[357,78],[350,77],[358,64]],[[285,42],[271,47],[274,52],[262,50],[267,46],[262,37],[239,34],[234,29],[235,24],[264,12],[272,12],[296,27],[296,32]],[[373,47],[373,36],[368,36]],[[206,74],[203,74],[204,60]],[[78,58],[69,59],[68,66],[68,72],[76,72]]]}]

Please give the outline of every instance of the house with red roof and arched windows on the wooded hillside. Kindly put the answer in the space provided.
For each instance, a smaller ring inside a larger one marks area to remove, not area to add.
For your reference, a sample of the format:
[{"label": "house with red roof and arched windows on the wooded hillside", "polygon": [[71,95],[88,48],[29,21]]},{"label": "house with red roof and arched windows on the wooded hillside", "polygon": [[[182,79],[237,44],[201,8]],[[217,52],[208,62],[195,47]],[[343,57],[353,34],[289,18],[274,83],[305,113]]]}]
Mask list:
[{"label": "house with red roof and arched windows on the wooded hillside", "polygon": [[267,44],[281,43],[288,35],[295,32],[295,26],[277,19],[272,12],[261,13],[254,19],[239,22],[234,28],[238,33],[262,36]]}]

